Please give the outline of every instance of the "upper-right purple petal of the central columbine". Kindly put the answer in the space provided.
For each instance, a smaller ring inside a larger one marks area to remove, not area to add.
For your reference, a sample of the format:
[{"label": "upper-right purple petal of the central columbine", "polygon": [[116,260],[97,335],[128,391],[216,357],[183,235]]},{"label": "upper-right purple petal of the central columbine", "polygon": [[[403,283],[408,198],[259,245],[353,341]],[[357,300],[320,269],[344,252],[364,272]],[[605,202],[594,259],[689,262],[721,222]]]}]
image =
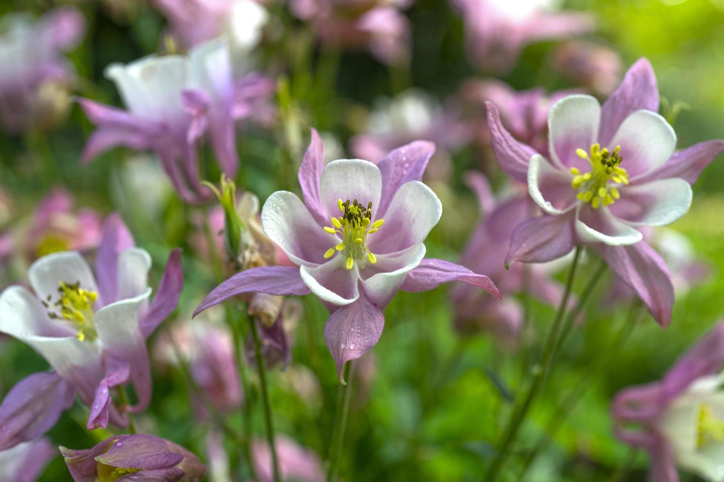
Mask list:
[{"label": "upper-right purple petal of the central columbine", "polygon": [[384,218],[400,186],[408,181],[422,181],[422,174],[434,153],[434,142],[415,141],[397,147],[377,163],[382,173],[382,197],[376,209],[376,218]]}]

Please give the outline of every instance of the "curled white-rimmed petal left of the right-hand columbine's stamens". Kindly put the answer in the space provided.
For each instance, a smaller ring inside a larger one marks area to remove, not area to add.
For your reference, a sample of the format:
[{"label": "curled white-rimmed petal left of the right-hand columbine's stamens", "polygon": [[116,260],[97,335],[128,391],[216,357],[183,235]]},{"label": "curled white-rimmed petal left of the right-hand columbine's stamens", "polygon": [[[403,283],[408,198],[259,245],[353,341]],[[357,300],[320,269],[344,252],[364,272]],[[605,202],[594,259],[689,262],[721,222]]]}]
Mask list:
[{"label": "curled white-rimmed petal left of the right-hand columbine's stamens", "polygon": [[528,192],[536,205],[548,214],[563,214],[576,206],[576,189],[571,187],[571,181],[573,174],[570,171],[556,168],[540,154],[531,158],[528,165]]}]

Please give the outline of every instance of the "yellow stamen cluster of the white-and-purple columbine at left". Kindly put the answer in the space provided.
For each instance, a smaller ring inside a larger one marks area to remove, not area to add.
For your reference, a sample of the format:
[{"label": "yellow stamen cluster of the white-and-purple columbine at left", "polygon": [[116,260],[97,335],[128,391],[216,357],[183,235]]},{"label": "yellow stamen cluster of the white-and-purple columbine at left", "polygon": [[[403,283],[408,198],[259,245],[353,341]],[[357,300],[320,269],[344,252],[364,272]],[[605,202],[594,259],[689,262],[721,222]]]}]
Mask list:
[{"label": "yellow stamen cluster of the white-and-purple columbine at left", "polygon": [[93,341],[96,339],[96,327],[93,324],[93,303],[98,299],[96,291],[80,288],[80,281],[75,283],[59,282],[58,299],[53,302],[51,295],[43,306],[48,309],[50,319],[62,319],[70,322],[78,330],[78,340]]}]

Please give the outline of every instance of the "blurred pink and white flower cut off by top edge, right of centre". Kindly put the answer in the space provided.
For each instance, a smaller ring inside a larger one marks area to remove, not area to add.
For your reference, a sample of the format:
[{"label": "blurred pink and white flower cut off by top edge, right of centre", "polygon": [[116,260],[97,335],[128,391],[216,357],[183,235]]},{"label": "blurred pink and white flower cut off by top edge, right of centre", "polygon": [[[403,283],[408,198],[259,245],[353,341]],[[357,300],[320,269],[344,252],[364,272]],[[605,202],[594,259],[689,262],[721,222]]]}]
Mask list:
[{"label": "blurred pink and white flower cut off by top edge, right of centre", "polygon": [[576,12],[550,12],[555,0],[452,0],[465,20],[468,53],[476,66],[505,73],[528,43],[593,30]]}]

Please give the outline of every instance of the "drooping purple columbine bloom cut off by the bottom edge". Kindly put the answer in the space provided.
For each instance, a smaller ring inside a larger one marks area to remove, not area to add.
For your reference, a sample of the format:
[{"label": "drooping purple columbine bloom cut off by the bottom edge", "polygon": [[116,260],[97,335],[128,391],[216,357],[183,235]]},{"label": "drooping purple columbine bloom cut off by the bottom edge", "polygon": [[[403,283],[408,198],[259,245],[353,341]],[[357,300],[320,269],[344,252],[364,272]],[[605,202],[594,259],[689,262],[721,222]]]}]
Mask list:
[{"label": "drooping purple columbine bloom cut off by the bottom edge", "polygon": [[92,449],[60,452],[75,482],[199,482],[206,473],[193,453],[155,435],[118,435]]}]

